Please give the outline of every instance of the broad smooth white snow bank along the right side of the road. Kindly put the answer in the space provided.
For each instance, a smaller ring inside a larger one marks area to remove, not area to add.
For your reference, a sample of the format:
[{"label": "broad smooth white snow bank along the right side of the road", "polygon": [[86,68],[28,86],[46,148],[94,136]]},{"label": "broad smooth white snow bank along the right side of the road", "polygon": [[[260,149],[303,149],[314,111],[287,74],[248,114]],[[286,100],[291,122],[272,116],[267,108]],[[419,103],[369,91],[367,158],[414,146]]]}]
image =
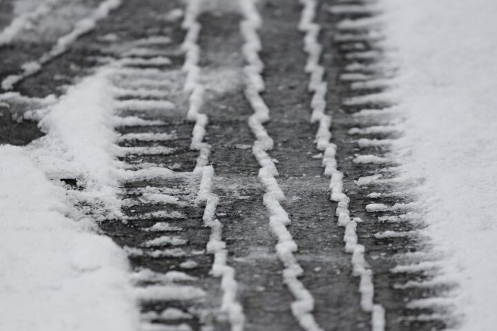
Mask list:
[{"label": "broad smooth white snow bank along the right side of the road", "polygon": [[382,0],[395,89],[407,113],[395,143],[445,272],[460,283],[461,330],[495,330],[497,314],[497,38],[494,0]]}]

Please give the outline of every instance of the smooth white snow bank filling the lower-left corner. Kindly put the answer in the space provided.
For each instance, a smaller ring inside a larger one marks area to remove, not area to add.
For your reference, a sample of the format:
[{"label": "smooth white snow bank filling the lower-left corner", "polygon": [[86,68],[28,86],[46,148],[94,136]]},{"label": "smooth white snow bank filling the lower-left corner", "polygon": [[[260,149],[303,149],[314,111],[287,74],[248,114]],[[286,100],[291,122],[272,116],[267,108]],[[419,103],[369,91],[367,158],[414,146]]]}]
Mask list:
[{"label": "smooth white snow bank filling the lower-left corner", "polygon": [[126,254],[66,217],[66,190],[0,146],[0,330],[137,330]]}]

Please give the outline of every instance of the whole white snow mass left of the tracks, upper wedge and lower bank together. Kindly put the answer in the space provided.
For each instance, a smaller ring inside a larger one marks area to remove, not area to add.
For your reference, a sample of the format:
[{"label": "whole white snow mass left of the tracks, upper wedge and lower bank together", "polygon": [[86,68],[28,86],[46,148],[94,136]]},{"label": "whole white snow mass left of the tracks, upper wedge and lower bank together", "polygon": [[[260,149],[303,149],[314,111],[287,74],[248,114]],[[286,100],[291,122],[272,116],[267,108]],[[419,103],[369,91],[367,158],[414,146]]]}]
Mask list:
[{"label": "whole white snow mass left of the tracks, upper wedge and lower bank together", "polygon": [[[31,116],[44,137],[0,147],[0,329],[136,330],[127,254],[97,234],[117,216],[113,97],[106,70]],[[14,96],[15,97],[15,96]],[[61,179],[73,179],[77,189]],[[93,206],[93,218],[75,208]]]}]

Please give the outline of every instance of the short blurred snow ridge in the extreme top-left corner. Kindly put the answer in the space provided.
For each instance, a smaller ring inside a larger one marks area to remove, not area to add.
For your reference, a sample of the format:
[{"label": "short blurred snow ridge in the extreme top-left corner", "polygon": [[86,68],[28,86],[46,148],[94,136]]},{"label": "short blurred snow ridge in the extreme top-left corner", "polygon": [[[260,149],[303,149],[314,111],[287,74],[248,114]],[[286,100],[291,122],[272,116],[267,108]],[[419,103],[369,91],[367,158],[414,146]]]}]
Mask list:
[{"label": "short blurred snow ridge in the extreme top-left corner", "polygon": [[18,17],[15,17],[6,28],[0,32],[0,46],[8,45],[16,37],[16,35],[29,26],[32,21],[36,21],[39,17],[48,14],[60,0],[47,0],[40,3],[39,6],[30,12],[23,12]]}]

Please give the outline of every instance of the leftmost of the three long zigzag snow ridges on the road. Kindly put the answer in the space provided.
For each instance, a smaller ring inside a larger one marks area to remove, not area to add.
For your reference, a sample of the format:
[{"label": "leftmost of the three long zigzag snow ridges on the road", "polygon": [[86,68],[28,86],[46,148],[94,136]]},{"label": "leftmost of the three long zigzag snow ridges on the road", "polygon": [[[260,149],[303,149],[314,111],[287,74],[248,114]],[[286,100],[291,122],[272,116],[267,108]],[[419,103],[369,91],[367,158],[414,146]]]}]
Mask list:
[{"label": "leftmost of the three long zigzag snow ridges on the road", "polygon": [[186,118],[195,121],[192,132],[191,148],[199,151],[194,173],[202,176],[200,183],[198,201],[206,203],[204,209],[204,225],[211,228],[211,237],[207,243],[207,252],[214,254],[214,262],[211,272],[214,277],[221,277],[221,288],[223,291],[220,312],[227,314],[231,324],[231,331],[244,330],[245,315],[242,305],[237,301],[238,283],[235,279],[235,269],[226,264],[228,251],[226,243],[222,241],[222,223],[215,218],[215,210],[219,197],[211,192],[214,179],[214,168],[208,165],[211,154],[211,146],[204,143],[208,117],[200,113],[204,103],[204,86],[199,82],[200,68],[198,37],[202,28],[197,21],[200,4],[203,0],[188,0],[182,27],[186,30],[186,37],[182,44],[185,54],[183,70],[186,72],[184,85],[185,92],[190,94],[188,99],[189,108]]}]

